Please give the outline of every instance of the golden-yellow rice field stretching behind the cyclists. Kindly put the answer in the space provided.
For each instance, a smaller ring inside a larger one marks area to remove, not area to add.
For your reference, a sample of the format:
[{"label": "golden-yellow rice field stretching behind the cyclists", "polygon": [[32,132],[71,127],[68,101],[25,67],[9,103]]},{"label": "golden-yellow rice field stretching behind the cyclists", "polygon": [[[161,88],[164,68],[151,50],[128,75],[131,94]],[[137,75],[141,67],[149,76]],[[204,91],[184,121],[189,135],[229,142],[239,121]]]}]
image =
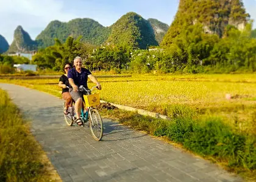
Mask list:
[{"label": "golden-yellow rice field stretching behind the cyclists", "polygon": [[[169,106],[185,106],[198,115],[221,116],[249,128],[256,108],[256,75],[132,75],[98,78],[101,99],[166,114]],[[59,79],[0,79],[60,96]],[[89,83],[93,86],[93,83]],[[231,99],[226,95],[230,94]]]}]

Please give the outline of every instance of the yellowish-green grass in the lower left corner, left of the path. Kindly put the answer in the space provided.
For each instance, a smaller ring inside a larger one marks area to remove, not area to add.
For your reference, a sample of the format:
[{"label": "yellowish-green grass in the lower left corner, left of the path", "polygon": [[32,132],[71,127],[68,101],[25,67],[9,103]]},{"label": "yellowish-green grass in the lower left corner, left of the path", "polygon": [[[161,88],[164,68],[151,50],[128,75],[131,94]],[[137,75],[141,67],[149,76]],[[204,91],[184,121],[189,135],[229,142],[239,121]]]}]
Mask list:
[{"label": "yellowish-green grass in the lower left corner, left of the path", "polygon": [[59,180],[17,107],[0,89],[0,181]]}]

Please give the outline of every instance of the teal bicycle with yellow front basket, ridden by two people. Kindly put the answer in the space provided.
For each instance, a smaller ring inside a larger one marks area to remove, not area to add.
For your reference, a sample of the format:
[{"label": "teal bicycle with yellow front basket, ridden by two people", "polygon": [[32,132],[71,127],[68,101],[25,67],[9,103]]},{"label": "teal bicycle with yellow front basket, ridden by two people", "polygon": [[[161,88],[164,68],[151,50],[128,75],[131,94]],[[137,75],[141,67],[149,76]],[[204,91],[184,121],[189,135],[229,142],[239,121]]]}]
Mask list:
[{"label": "teal bicycle with yellow front basket, ridden by two people", "polygon": [[[85,123],[89,122],[89,127],[91,134],[93,135],[94,140],[100,141],[103,136],[103,123],[99,111],[94,107],[100,104],[99,93],[93,93],[93,90],[97,87],[94,86],[91,90],[85,89],[85,87],[80,86],[78,88],[79,92],[82,94],[83,104],[85,109],[81,109],[80,118],[82,120],[82,125],[85,126]],[[87,95],[83,93],[87,92]],[[65,103],[63,103],[65,107]],[[65,121],[68,126],[72,126],[76,120],[76,114],[74,109],[74,104],[68,107],[68,114],[64,114]]]}]

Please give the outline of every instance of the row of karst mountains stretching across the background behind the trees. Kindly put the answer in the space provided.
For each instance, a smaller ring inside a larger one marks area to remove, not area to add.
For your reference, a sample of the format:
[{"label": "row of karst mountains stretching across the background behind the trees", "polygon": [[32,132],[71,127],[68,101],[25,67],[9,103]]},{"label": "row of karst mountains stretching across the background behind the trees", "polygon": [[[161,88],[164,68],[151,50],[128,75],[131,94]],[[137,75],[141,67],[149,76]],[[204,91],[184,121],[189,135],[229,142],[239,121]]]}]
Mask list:
[{"label": "row of karst mountains stretching across the background behind the trees", "polygon": [[[33,41],[21,26],[14,33],[14,39],[7,52],[26,52],[54,45],[54,39],[65,42],[69,36],[93,45],[130,45],[146,49],[151,45],[169,46],[182,39],[189,27],[201,24],[204,33],[224,35],[227,25],[244,29],[249,14],[241,0],[180,0],[174,21],[169,25],[157,19],[144,19],[137,13],[121,16],[110,27],[89,18],[77,18],[69,22],[52,21]],[[256,30],[252,32],[256,37]],[[8,49],[8,43],[0,36],[0,53]]]}]

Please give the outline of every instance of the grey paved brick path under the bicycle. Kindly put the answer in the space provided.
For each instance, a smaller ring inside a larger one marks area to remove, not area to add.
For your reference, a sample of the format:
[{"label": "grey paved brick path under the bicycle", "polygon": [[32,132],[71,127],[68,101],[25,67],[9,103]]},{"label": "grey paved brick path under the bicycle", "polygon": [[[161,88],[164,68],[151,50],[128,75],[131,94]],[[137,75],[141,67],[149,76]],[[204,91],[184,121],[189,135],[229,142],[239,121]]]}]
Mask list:
[{"label": "grey paved brick path under the bicycle", "polygon": [[66,126],[60,99],[0,84],[32,121],[32,133],[63,181],[242,181],[214,164],[149,135],[104,119],[94,141],[87,127]]}]

